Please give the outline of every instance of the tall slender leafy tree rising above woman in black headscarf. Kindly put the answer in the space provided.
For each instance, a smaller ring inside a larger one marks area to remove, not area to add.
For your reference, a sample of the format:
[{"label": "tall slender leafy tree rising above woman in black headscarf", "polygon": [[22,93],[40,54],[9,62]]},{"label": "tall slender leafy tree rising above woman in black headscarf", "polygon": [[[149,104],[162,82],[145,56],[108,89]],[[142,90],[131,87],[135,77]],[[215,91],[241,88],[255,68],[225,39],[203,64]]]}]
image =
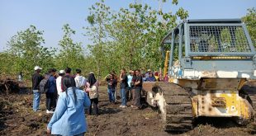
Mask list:
[{"label": "tall slender leafy tree rising above woman in black headscarf", "polygon": [[[104,1],[96,2],[92,7],[89,8],[90,16],[88,16],[87,21],[91,26],[84,28],[87,30],[86,35],[90,37],[93,45],[88,45],[94,65],[97,66],[97,79],[102,77],[102,72],[105,70],[107,64],[107,56],[105,55],[107,41],[107,30],[106,25],[109,22],[111,12],[110,7],[104,4]],[[103,72],[104,73],[104,72]]]}]

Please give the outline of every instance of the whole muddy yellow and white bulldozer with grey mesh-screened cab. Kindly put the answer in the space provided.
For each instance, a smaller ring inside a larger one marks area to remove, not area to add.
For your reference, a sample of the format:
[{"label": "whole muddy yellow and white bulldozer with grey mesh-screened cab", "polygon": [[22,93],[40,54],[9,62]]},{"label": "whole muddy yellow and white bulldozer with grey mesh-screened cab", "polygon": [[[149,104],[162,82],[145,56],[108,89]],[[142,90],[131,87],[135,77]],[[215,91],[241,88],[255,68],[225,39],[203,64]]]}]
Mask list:
[{"label": "whole muddy yellow and white bulldozer with grey mesh-screened cab", "polygon": [[256,53],[242,21],[183,21],[162,45],[169,82],[143,87],[149,105],[159,107],[165,130],[192,129],[200,116],[230,117],[238,124],[253,120],[256,87],[243,86],[256,80]]}]

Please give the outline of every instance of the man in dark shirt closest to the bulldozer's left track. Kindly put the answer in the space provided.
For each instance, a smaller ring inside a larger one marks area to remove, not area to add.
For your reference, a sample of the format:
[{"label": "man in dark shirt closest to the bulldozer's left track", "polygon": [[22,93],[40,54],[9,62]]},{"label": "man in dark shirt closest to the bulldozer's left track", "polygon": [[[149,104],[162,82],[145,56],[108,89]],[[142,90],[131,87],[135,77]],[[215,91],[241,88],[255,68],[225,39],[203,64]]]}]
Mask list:
[{"label": "man in dark shirt closest to the bulldozer's left track", "polygon": [[136,81],[135,81],[135,108],[140,109],[140,91],[142,89],[142,76],[140,70],[136,70]]}]

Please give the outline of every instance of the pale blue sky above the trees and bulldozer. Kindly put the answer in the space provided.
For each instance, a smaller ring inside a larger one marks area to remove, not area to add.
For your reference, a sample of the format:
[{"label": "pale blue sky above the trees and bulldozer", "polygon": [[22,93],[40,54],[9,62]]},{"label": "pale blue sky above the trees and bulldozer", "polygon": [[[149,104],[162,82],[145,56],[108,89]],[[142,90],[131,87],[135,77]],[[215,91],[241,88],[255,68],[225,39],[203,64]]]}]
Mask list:
[{"label": "pale blue sky above the trees and bulldozer", "polygon": [[[189,12],[189,19],[240,18],[246,15],[247,9],[256,7],[256,0],[178,0],[173,6],[171,0],[164,3],[164,12],[176,12],[183,7]],[[44,30],[46,47],[59,45],[63,31],[62,26],[69,23],[77,34],[73,40],[82,42],[83,47],[90,44],[88,37],[83,36],[83,26],[91,7],[97,0],[1,0],[0,1],[0,51],[7,49],[7,41],[19,30],[26,30],[30,25]],[[113,10],[128,7],[135,0],[106,0]],[[158,8],[158,0],[137,0]]]}]

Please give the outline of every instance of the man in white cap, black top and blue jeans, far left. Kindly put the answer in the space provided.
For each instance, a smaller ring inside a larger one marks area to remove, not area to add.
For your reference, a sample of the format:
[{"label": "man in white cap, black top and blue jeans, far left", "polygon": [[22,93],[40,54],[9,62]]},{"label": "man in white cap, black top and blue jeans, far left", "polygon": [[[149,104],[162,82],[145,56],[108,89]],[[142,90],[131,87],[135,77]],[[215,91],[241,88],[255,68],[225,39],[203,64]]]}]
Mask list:
[{"label": "man in white cap, black top and blue jeans, far left", "polygon": [[43,80],[43,76],[40,75],[40,71],[42,68],[39,66],[36,66],[34,68],[35,73],[32,75],[32,90],[34,93],[34,100],[33,100],[33,110],[40,111],[39,110],[39,105],[40,105],[40,91],[39,91],[39,84],[40,81]]}]

